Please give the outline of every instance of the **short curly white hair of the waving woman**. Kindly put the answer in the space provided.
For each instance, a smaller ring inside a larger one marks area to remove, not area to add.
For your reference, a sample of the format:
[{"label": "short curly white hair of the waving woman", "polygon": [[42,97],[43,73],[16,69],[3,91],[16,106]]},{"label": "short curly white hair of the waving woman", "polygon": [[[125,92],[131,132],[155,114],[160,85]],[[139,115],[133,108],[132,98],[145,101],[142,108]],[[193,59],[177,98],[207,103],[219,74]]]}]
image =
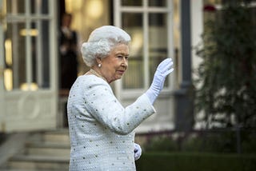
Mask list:
[{"label": "short curly white hair of the waving woman", "polygon": [[106,58],[118,44],[130,42],[130,35],[116,26],[101,26],[91,32],[87,42],[82,43],[82,59],[86,66],[94,66],[96,58]]}]

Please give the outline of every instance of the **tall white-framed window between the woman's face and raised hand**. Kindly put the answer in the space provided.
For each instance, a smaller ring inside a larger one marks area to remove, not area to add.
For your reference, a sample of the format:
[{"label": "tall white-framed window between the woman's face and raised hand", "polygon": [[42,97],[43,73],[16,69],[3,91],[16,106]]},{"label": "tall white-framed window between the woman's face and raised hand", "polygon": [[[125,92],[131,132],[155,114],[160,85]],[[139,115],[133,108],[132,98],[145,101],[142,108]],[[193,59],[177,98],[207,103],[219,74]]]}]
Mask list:
[{"label": "tall white-framed window between the woman's face and raised hand", "polygon": [[[174,57],[172,1],[115,0],[114,24],[130,34],[129,69],[119,82],[125,91],[147,89],[154,71],[166,57]],[[165,88],[171,89],[170,78]]]}]

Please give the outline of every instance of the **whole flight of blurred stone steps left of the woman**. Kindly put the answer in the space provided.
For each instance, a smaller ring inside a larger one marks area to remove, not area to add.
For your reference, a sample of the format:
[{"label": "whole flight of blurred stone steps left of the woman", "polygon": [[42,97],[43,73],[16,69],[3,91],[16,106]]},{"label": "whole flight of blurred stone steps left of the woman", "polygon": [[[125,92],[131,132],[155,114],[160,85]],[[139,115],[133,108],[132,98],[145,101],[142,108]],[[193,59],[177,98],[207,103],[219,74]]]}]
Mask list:
[{"label": "whole flight of blurred stone steps left of the woman", "polygon": [[68,129],[30,133],[25,141],[23,148],[16,150],[17,153],[12,155],[13,157],[0,165],[0,171],[66,171],[69,169]]}]

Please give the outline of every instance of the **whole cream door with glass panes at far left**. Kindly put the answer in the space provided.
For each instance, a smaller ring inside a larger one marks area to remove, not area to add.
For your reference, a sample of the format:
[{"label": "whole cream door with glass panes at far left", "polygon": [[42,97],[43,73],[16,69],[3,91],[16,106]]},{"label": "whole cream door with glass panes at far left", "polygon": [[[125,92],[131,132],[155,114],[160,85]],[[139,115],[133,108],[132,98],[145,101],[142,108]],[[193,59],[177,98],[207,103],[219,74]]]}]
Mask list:
[{"label": "whole cream door with glass panes at far left", "polygon": [[55,1],[1,0],[0,132],[49,129],[57,114]]}]

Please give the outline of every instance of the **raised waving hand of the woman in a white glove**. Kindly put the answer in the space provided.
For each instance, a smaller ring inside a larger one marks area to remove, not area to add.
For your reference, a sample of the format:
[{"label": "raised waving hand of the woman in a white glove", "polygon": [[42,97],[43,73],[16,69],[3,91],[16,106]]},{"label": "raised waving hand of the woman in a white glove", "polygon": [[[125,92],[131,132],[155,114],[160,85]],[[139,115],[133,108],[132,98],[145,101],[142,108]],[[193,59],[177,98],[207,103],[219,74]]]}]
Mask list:
[{"label": "raised waving hand of the woman in a white glove", "polygon": [[173,64],[172,59],[167,58],[158,65],[158,68],[154,73],[154,78],[152,84],[150,85],[150,89],[146,91],[146,95],[149,97],[152,105],[163,88],[166,76],[173,72]]}]

